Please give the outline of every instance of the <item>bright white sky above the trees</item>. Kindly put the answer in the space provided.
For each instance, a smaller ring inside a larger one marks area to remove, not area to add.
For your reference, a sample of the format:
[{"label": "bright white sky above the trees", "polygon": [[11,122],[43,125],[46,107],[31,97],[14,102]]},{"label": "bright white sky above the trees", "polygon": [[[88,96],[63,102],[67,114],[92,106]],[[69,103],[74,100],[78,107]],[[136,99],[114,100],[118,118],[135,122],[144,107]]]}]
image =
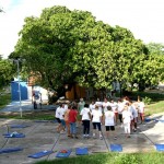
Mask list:
[{"label": "bright white sky above the trees", "polygon": [[97,21],[130,30],[144,44],[164,44],[163,0],[0,0],[0,55],[8,58],[14,51],[25,17],[52,5],[90,11]]}]

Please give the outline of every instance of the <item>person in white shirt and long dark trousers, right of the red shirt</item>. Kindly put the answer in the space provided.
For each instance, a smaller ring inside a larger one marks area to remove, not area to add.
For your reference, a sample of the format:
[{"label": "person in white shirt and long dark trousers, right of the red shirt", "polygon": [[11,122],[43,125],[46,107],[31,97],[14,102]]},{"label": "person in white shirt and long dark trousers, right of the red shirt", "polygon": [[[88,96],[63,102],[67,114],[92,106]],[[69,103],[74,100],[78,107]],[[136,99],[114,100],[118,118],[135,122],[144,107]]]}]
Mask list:
[{"label": "person in white shirt and long dark trousers, right of the red shirt", "polygon": [[90,121],[91,121],[91,112],[89,104],[84,105],[84,108],[81,110],[80,115],[82,116],[83,122],[83,138],[90,137]]}]

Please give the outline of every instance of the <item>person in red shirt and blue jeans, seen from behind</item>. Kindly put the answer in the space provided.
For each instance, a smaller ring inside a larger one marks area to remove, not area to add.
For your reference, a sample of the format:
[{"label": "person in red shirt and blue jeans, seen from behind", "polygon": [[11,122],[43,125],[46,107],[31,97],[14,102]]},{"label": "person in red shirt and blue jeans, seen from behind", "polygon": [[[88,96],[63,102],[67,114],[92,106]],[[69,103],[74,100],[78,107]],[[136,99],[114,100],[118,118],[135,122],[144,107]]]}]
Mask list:
[{"label": "person in red shirt and blue jeans, seen from behind", "polygon": [[69,112],[69,122],[70,122],[70,137],[71,138],[75,138],[77,137],[77,116],[78,116],[78,112],[77,112],[77,107],[73,106],[70,112]]}]

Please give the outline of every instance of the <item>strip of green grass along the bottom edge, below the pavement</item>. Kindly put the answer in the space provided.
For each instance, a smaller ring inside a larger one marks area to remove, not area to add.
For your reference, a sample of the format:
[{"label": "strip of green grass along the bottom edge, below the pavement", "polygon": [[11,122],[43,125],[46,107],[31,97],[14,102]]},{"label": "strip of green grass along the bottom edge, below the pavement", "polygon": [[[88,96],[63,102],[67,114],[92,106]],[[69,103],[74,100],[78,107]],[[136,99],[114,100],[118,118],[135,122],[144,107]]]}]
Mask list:
[{"label": "strip of green grass along the bottom edge, below the pavement", "polygon": [[162,164],[164,154],[151,153],[102,153],[84,156],[75,156],[52,161],[42,161],[35,164]]}]

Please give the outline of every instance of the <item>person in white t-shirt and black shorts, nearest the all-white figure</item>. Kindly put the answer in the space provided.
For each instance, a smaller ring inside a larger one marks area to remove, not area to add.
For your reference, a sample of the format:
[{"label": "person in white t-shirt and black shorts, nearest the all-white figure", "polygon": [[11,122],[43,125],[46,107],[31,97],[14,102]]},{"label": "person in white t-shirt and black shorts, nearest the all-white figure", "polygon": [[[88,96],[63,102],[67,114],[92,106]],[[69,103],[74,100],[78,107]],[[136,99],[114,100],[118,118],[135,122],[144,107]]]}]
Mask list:
[{"label": "person in white t-shirt and black shorts, nearest the all-white figure", "polygon": [[117,139],[115,133],[115,121],[116,116],[115,113],[112,110],[110,106],[107,106],[107,110],[104,113],[104,121],[105,121],[105,128],[106,128],[106,138],[109,137],[109,130],[114,132],[115,140]]}]

